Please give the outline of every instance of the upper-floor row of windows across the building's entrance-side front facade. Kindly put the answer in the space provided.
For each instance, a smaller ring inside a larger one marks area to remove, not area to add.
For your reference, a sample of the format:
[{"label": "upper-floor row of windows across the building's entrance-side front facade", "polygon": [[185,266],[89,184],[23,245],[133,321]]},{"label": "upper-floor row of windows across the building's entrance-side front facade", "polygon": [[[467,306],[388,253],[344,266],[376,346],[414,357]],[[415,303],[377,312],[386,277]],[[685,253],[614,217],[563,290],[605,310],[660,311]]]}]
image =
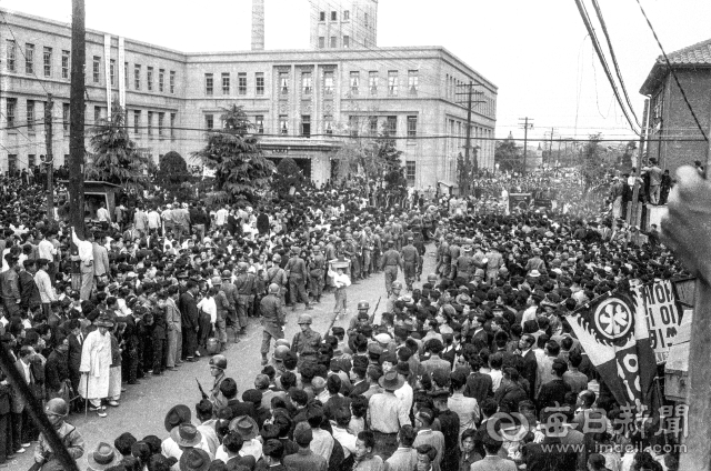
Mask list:
[{"label": "upper-floor row of windows across the building's entrance-side front facade", "polygon": [[[229,72],[222,72],[221,76],[221,88],[223,96],[232,94],[231,87],[231,77]],[[216,94],[216,83],[214,83],[214,73],[206,73],[204,74],[204,93],[208,97],[212,97]],[[323,73],[323,92],[328,94],[333,94],[333,71],[326,71]],[[278,76],[278,84],[279,84],[279,93],[288,94],[289,93],[289,72],[279,72]],[[370,96],[377,96],[378,89],[380,86],[380,76],[378,71],[368,72],[368,93]],[[351,94],[359,94],[361,89],[361,80],[360,72],[352,71],[350,72],[349,87]],[[408,71],[408,93],[411,97],[415,97],[418,94],[418,89],[420,87],[420,78],[419,71],[409,70]],[[248,89],[247,83],[247,73],[240,72],[237,74],[237,94],[246,96]],[[399,74],[397,70],[388,71],[388,96],[397,97],[399,91]],[[313,77],[311,72],[302,72],[301,73],[301,93],[304,96],[309,96],[313,92]],[[264,73],[256,72],[254,73],[254,94],[263,96],[264,94]]]}]

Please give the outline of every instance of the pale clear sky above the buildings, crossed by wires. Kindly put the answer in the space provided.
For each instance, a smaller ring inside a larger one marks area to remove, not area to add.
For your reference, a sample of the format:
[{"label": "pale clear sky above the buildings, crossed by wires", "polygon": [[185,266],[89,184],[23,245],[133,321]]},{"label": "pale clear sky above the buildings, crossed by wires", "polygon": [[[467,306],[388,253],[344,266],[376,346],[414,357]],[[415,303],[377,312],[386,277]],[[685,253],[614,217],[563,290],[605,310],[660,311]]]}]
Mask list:
[{"label": "pale clear sky above the buildings, crossed by wires", "polygon": [[[637,0],[598,0],[639,120],[660,49]],[[668,53],[711,38],[709,0],[640,0]],[[584,0],[608,54],[591,0]],[[264,0],[266,49],[309,48],[309,0]],[[627,140],[630,130],[574,0],[380,0],[378,46],[442,46],[498,86],[495,136]],[[0,0],[71,22],[71,0]],[[87,28],[184,52],[250,49],[251,0],[86,0]],[[610,63],[611,66],[611,63]],[[612,67],[612,66],[611,66]],[[612,72],[614,74],[614,72]],[[705,111],[702,111],[705,112]]]}]

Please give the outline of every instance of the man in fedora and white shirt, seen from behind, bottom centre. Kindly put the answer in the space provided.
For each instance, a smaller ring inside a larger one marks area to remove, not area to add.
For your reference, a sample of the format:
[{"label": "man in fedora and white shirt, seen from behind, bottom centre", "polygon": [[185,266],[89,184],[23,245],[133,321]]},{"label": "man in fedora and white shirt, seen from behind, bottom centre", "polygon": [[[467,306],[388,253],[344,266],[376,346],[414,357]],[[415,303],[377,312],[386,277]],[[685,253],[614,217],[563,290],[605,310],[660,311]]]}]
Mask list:
[{"label": "man in fedora and white shirt, seen from behind, bottom centre", "polygon": [[395,395],[395,390],[404,384],[398,371],[388,371],[378,383],[383,392],[373,394],[368,401],[368,424],[375,435],[373,452],[387,460],[398,448],[398,430],[410,424],[410,411]]}]

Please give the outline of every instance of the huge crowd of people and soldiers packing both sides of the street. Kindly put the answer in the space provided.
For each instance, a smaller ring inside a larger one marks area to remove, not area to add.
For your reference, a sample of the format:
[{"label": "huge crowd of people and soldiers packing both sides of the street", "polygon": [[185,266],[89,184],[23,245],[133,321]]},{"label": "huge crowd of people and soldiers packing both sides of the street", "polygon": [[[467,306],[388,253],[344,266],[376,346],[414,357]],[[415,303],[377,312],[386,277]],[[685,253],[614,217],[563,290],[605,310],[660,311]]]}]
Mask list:
[{"label": "huge crowd of people and soldiers packing both sides of the street", "polygon": [[[677,469],[655,447],[675,435],[617,427],[623,411],[565,319],[632,279],[683,271],[653,230],[642,240],[604,211],[562,206],[479,211],[481,196],[451,211],[431,190],[373,207],[361,188],[327,186],[254,206],[133,196],[80,237],[46,218],[38,183],[1,183],[0,343],[81,469]],[[500,182],[487,188],[501,198]],[[348,285],[374,275],[379,312],[350,303],[348,328],[323,338],[301,312],[283,338],[288,308],[333,292],[347,312]],[[263,370],[240,394],[222,352],[250,318]],[[126,384],[202,359],[214,383],[170,409],[163,437],[127,430],[88,450],[66,421],[107,417]],[[547,433],[552,418],[564,437]],[[0,467],[33,442],[36,469],[61,469],[2,374]]]}]

